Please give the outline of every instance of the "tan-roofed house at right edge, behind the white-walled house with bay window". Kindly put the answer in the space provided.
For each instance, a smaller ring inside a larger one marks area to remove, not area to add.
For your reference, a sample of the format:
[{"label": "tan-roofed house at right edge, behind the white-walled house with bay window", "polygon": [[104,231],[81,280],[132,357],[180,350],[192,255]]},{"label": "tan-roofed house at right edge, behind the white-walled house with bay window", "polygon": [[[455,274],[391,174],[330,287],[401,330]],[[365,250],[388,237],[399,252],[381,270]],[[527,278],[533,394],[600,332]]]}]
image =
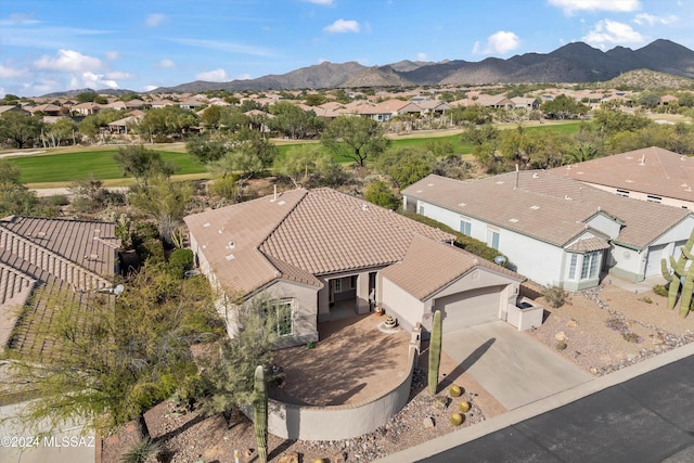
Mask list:
[{"label": "tan-roofed house at right edge, behind the white-walled house with bay window", "polygon": [[651,146],[550,170],[619,196],[694,210],[694,157]]}]

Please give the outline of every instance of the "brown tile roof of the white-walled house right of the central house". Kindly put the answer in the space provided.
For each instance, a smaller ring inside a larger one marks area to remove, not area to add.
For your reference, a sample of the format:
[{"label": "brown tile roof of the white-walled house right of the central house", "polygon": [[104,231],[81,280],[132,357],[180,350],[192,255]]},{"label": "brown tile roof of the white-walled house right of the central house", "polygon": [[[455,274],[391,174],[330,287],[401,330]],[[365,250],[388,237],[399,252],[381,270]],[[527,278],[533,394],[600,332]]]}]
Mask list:
[{"label": "brown tile roof of the white-walled house right of the central house", "polygon": [[616,241],[638,249],[690,214],[617,196],[542,170],[464,182],[432,175],[408,187],[403,194],[562,247],[578,237],[596,214],[624,223]]}]

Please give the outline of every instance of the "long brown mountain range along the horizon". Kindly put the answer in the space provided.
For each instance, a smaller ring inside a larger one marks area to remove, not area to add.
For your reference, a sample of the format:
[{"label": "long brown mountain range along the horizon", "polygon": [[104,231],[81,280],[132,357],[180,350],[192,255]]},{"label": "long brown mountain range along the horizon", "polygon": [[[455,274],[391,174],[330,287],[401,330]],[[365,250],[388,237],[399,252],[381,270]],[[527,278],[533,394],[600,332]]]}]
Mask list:
[{"label": "long brown mountain range along the horizon", "polygon": [[[507,60],[488,57],[479,62],[453,60],[438,63],[406,60],[384,66],[363,66],[357,62],[342,64],[324,62],[282,75],[229,82],[196,80],[176,87],[159,87],[150,93],[602,82],[635,69],[650,69],[692,79],[694,78],[694,51],[666,39],[655,40],[638,50],[616,47],[606,52],[583,42],[573,42],[551,53],[525,53]],[[121,93],[124,91],[100,92]]]}]

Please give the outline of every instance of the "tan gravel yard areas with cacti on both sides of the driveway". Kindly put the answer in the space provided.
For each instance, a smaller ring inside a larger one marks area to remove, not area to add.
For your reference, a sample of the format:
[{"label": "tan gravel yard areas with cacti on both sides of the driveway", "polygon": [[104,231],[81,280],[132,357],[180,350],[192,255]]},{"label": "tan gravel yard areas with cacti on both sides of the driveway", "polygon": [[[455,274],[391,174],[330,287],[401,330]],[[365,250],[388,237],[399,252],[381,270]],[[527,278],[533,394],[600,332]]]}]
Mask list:
[{"label": "tan gravel yard areas with cacti on both sides of the driveway", "polygon": [[[549,307],[542,298],[537,301]],[[677,309],[667,309],[667,298],[653,292],[630,293],[606,279],[599,288],[571,294],[563,307],[548,308],[542,326],[528,331],[527,335],[600,376],[693,342],[694,317],[682,319]],[[557,337],[566,339],[565,349],[557,349]],[[426,390],[425,348],[423,346],[410,402],[385,426],[340,441],[286,441],[270,436],[270,460],[288,462],[292,460],[283,458],[296,453],[298,461],[304,462],[319,458],[331,463],[370,462],[505,411],[465,373],[458,377],[444,376],[440,395],[449,398],[450,406],[446,410],[434,408],[434,399]],[[450,373],[455,366],[445,357],[441,373]],[[448,386],[452,383],[463,387],[462,398],[450,398]],[[453,427],[449,415],[461,399],[470,401],[472,409],[463,425]],[[150,411],[147,421],[154,436],[160,436],[160,442],[169,451],[167,461],[232,462],[234,450],[240,451],[242,463],[257,461],[253,424],[245,416],[235,416],[229,426],[221,415],[202,419],[196,412],[183,413],[165,402]],[[118,461],[132,442],[132,435],[133,427],[129,426],[104,437],[102,461]]]}]

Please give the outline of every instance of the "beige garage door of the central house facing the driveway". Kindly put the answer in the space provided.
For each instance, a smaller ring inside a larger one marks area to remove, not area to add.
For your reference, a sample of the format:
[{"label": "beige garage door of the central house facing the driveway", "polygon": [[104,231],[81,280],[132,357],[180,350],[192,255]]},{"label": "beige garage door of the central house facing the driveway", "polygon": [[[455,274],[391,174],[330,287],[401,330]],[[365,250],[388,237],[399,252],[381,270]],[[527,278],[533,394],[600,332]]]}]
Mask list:
[{"label": "beige garage door of the central house facing the driveway", "polygon": [[499,320],[501,287],[481,287],[436,299],[435,307],[444,319],[444,332]]}]

